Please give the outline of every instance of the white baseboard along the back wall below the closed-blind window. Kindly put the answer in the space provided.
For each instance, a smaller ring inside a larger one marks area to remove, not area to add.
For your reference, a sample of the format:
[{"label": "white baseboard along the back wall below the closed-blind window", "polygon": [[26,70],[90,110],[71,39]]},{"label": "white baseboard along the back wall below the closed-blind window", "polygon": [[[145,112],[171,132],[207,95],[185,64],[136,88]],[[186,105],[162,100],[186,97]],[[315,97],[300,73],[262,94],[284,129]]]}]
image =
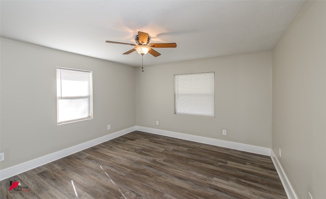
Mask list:
[{"label": "white baseboard along the back wall below the closed-blind window", "polygon": [[173,131],[147,128],[147,127],[142,127],[142,126],[136,126],[136,130],[147,132],[147,133],[158,134],[158,135],[164,135],[164,136],[168,136],[168,137],[185,139],[185,140],[189,140],[189,141],[196,141],[197,143],[203,143],[203,144],[208,144],[208,145],[213,145],[213,146],[218,146],[218,147],[225,147],[225,148],[229,148],[229,149],[246,151],[246,152],[261,154],[261,155],[266,155],[266,156],[270,156],[270,151],[271,151],[271,149],[265,148],[265,147],[258,147],[258,146],[253,146],[253,145],[234,143],[232,141],[213,139],[213,138],[208,138],[208,137],[201,137],[201,136],[197,136],[197,135],[189,135],[189,134],[177,133],[177,132],[173,132]]}]

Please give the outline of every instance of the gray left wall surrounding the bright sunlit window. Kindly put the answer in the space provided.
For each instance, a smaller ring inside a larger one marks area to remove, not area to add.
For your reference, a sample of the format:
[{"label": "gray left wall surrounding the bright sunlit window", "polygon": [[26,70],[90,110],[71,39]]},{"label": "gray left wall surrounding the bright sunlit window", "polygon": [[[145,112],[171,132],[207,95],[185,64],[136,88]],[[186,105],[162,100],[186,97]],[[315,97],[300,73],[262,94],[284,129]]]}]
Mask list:
[{"label": "gray left wall surrounding the bright sunlit window", "polygon": [[[93,120],[57,125],[57,66],[93,71]],[[133,127],[134,82],[134,67],[1,39],[1,169]]]}]

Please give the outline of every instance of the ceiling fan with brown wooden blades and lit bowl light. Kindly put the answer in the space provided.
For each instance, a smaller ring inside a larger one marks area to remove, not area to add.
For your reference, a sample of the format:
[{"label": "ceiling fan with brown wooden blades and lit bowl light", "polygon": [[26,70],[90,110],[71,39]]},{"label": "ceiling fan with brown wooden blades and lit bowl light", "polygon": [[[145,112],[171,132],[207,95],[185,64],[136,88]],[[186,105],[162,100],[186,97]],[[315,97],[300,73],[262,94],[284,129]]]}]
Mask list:
[{"label": "ceiling fan with brown wooden blades and lit bowl light", "polygon": [[125,44],[134,46],[133,49],[123,53],[123,54],[130,54],[133,51],[137,51],[139,54],[144,55],[149,52],[153,56],[161,55],[159,52],[154,50],[153,48],[175,48],[177,47],[176,43],[149,43],[150,36],[148,33],[138,32],[138,35],[134,39],[137,44],[129,44],[129,43],[122,43],[122,42],[115,42],[115,41],[105,41],[106,43],[114,43],[114,44]]}]

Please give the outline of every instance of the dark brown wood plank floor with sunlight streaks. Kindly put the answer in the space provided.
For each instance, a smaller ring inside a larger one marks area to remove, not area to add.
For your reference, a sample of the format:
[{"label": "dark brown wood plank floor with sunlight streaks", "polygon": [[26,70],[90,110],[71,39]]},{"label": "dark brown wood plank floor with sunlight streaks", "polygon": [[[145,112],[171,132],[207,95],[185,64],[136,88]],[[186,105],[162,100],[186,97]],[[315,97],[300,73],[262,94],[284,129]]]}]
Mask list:
[{"label": "dark brown wood plank floor with sunlight streaks", "polygon": [[[10,181],[22,190],[9,191]],[[1,198],[287,198],[268,156],[139,131],[3,180],[0,191]]]}]

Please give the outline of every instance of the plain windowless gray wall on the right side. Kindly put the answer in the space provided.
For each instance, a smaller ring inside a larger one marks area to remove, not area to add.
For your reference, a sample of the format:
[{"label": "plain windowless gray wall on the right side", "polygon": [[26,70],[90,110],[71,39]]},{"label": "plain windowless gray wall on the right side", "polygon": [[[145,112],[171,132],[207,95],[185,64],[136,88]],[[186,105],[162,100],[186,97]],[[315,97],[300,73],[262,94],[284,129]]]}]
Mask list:
[{"label": "plain windowless gray wall on the right side", "polygon": [[299,198],[326,198],[325,1],[304,4],[273,55],[273,151]]}]

